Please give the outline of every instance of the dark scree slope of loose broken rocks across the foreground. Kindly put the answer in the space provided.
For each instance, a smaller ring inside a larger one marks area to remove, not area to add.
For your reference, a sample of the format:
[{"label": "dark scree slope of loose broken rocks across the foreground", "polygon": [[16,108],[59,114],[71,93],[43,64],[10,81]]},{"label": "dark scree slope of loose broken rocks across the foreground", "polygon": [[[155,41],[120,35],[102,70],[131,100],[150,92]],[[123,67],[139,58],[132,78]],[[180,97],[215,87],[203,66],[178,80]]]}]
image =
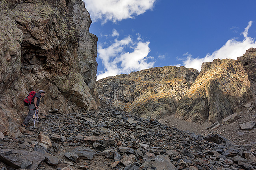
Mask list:
[{"label": "dark scree slope of loose broken rocks across the foreground", "polygon": [[203,137],[113,108],[39,115],[22,135],[0,135],[3,170],[253,170],[253,144]]}]

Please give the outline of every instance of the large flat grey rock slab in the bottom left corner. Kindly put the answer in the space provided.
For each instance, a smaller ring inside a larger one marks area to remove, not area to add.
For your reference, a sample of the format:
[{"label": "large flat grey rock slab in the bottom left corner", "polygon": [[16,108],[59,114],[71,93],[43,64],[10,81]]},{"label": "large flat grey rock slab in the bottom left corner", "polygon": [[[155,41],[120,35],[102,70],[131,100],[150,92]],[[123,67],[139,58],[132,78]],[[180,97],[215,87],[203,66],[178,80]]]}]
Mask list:
[{"label": "large flat grey rock slab in the bottom left corner", "polygon": [[[11,151],[12,154],[6,155]],[[27,168],[35,170],[37,166],[45,160],[45,155],[40,152],[26,150],[0,150],[0,160],[13,168]]]}]

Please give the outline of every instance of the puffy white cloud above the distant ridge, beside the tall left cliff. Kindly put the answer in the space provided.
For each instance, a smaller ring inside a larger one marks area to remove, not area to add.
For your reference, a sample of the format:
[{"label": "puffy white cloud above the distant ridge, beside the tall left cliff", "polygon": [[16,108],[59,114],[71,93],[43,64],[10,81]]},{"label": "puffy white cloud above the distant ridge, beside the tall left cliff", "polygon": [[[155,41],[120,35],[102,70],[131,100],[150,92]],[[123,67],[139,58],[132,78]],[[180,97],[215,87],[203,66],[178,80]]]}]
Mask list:
[{"label": "puffy white cloud above the distant ridge, beside the tall left cliff", "polygon": [[[154,58],[148,56],[150,42],[132,40],[130,36],[117,40],[103,48],[98,46],[98,57],[102,59],[105,70],[97,75],[97,80],[117,74],[130,73],[154,66]],[[125,52],[129,48],[132,52]]]}]

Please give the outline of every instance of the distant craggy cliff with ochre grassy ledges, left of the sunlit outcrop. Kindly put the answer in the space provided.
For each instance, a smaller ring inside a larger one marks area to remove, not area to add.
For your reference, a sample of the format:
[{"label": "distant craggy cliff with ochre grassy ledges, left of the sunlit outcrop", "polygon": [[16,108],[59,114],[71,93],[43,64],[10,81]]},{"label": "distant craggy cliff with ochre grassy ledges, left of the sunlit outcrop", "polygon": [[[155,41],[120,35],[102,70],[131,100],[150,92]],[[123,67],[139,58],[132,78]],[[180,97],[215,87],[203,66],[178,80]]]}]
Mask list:
[{"label": "distant craggy cliff with ochre grassy ledges, left of the sunlit outcrop", "polygon": [[176,66],[156,67],[107,77],[96,82],[100,101],[142,117],[174,114],[198,71]]}]

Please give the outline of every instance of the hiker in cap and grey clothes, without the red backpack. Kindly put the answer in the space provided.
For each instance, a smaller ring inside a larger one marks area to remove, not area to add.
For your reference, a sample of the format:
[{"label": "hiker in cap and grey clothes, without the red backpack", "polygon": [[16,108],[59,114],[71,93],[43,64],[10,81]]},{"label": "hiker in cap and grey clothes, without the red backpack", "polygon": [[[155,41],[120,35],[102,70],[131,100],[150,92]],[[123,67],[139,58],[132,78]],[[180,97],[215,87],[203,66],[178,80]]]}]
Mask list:
[{"label": "hiker in cap and grey clothes, without the red backpack", "polygon": [[21,126],[28,128],[28,121],[30,121],[30,119],[35,114],[35,110],[38,109],[38,106],[40,103],[40,98],[43,97],[44,95],[45,95],[45,91],[43,91],[43,90],[39,90],[38,93],[36,93],[34,95],[34,97],[32,98],[31,104],[28,106],[28,109],[29,109],[28,115],[27,115],[26,119],[24,120],[24,122],[21,124]]}]

